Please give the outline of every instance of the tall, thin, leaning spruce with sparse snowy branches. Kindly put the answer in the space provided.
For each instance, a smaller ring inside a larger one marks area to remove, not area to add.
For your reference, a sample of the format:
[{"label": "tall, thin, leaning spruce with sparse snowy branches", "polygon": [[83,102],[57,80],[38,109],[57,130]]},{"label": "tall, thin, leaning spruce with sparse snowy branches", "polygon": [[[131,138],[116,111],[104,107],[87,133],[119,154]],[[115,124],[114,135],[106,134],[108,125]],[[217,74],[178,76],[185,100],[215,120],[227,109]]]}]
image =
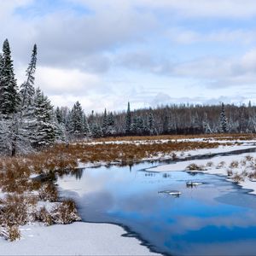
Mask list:
[{"label": "tall, thin, leaning spruce with sparse snowy branches", "polygon": [[34,74],[36,72],[37,66],[37,55],[38,55],[38,48],[37,44],[34,45],[32,49],[32,56],[31,61],[26,69],[26,81],[20,85],[20,96],[21,96],[21,108],[31,104],[32,97],[35,94],[34,89]]}]

